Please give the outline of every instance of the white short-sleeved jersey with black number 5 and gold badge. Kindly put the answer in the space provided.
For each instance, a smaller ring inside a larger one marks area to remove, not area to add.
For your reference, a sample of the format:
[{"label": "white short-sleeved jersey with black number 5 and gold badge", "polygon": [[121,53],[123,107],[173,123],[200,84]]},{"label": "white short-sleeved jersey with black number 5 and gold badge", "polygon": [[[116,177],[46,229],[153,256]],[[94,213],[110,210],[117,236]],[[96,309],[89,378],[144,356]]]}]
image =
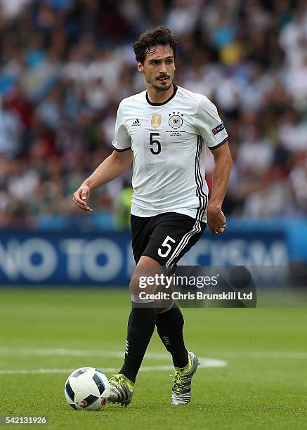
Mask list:
[{"label": "white short-sleeved jersey with black number 5 and gold badge", "polygon": [[112,145],[133,150],[131,214],[177,212],[207,221],[204,143],[214,149],[227,139],[215,105],[180,86],[164,103],[151,103],[146,91],[122,100]]}]

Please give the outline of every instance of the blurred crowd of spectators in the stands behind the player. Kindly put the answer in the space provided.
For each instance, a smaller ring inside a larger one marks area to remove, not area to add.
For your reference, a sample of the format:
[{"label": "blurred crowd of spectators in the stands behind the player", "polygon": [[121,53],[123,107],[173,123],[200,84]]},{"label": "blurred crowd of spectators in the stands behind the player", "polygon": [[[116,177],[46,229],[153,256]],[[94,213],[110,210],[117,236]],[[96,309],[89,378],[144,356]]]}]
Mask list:
[{"label": "blurred crowd of spectators in the stands behind the player", "polygon": [[[13,5],[13,7],[10,6]],[[2,0],[0,227],[125,228],[130,178],[72,204],[112,152],[117,106],[145,89],[132,44],[178,38],[176,84],[216,103],[234,166],[224,211],[307,216],[305,0]],[[207,181],[212,158],[207,150]]]}]

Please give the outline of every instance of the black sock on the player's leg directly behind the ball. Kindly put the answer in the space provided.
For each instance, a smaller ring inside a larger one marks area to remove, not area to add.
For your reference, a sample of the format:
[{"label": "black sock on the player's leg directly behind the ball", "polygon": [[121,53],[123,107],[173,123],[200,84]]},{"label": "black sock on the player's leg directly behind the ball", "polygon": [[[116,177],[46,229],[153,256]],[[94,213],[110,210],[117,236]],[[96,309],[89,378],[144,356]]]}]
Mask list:
[{"label": "black sock on the player's leg directly behind the ball", "polygon": [[152,306],[139,307],[132,304],[128,320],[124,365],[119,373],[123,373],[131,382],[141,367],[146,349],[155,330],[156,313]]}]

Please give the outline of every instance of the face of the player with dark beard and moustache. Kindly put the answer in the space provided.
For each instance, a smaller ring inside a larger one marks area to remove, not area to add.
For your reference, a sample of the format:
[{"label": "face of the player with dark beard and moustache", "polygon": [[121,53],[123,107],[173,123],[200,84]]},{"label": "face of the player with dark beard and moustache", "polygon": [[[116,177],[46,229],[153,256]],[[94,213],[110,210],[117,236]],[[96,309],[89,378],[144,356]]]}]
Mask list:
[{"label": "face of the player with dark beard and moustache", "polygon": [[171,88],[175,73],[174,53],[169,46],[157,45],[146,54],[144,64],[138,63],[145,82],[158,91]]}]

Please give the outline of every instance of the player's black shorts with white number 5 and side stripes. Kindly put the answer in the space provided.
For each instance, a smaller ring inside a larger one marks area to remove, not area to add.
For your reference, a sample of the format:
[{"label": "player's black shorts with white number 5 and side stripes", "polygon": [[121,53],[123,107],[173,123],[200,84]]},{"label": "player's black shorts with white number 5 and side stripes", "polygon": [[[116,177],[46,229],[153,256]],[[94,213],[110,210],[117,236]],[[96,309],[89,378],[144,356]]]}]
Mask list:
[{"label": "player's black shorts with white number 5 and side stripes", "polygon": [[162,266],[176,265],[200,239],[206,226],[206,223],[176,212],[146,218],[131,215],[132,250],[136,264],[145,255]]}]

